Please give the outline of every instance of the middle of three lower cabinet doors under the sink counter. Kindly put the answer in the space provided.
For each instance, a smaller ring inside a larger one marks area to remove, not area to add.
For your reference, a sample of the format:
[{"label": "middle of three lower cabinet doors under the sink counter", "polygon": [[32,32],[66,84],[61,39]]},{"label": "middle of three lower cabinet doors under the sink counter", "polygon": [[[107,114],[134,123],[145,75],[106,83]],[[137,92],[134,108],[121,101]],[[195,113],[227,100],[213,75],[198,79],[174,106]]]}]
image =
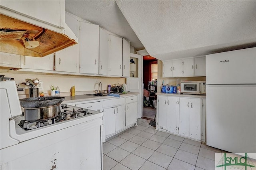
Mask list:
[{"label": "middle of three lower cabinet doors under the sink counter", "polygon": [[116,132],[125,127],[124,105],[116,107]]}]

